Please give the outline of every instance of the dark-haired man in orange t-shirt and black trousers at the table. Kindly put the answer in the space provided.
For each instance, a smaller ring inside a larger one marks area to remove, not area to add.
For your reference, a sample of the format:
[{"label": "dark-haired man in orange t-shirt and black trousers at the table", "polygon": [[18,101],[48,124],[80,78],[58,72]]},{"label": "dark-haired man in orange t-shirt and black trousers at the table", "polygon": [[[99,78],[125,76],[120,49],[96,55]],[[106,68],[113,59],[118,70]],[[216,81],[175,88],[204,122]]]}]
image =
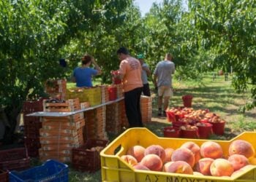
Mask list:
[{"label": "dark-haired man in orange t-shirt and black trousers at the table", "polygon": [[140,95],[143,90],[140,61],[129,55],[125,47],[117,50],[119,65],[118,77],[124,87],[124,105],[129,127],[143,127],[140,113]]}]

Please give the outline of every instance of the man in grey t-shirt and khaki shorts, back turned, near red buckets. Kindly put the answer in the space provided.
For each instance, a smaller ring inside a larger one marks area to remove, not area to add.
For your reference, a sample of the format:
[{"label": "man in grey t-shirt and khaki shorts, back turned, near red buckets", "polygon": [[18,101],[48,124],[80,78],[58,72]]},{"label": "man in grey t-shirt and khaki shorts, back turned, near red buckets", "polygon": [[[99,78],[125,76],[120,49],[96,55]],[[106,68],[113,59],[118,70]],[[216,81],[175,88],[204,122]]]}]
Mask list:
[{"label": "man in grey t-shirt and khaki shorts, back turned, near red buckets", "polygon": [[[173,95],[172,74],[175,72],[175,64],[173,63],[173,55],[167,53],[165,60],[159,61],[154,70],[153,82],[157,88],[158,94],[158,116],[166,116],[165,111],[168,107],[170,97]],[[162,100],[163,110],[162,110]]]}]

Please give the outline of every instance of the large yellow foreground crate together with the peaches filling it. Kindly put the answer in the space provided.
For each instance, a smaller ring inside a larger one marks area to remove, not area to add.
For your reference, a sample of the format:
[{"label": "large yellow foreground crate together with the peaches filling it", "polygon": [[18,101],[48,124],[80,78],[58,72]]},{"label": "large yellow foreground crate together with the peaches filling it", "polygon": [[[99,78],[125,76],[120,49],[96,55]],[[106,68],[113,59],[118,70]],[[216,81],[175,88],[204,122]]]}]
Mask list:
[{"label": "large yellow foreground crate together with the peaches filling it", "polygon": [[244,132],[230,141],[159,138],[146,128],[129,129],[101,152],[102,180],[256,181],[255,137]]}]

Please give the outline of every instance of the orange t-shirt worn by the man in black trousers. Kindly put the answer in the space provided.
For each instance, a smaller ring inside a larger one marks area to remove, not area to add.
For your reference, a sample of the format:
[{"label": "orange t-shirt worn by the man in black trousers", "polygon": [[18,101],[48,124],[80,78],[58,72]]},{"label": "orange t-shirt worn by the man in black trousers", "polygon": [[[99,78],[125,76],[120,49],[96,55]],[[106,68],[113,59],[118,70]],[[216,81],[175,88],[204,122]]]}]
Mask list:
[{"label": "orange t-shirt worn by the man in black trousers", "polygon": [[122,60],[119,66],[119,71],[124,75],[122,80],[124,92],[143,87],[141,80],[142,68],[139,60],[132,57]]}]

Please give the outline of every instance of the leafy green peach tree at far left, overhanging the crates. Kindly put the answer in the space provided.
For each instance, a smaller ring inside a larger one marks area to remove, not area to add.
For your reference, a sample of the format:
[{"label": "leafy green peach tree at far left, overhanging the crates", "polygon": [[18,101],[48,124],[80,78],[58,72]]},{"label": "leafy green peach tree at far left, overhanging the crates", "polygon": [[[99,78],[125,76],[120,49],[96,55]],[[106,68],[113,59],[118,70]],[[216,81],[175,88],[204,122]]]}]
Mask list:
[{"label": "leafy green peach tree at far left, overhanging the crates", "polygon": [[131,1],[1,1],[0,2],[0,109],[11,143],[16,118],[24,100],[42,95],[44,82],[62,78],[61,49],[99,23],[115,28],[119,14]]}]

